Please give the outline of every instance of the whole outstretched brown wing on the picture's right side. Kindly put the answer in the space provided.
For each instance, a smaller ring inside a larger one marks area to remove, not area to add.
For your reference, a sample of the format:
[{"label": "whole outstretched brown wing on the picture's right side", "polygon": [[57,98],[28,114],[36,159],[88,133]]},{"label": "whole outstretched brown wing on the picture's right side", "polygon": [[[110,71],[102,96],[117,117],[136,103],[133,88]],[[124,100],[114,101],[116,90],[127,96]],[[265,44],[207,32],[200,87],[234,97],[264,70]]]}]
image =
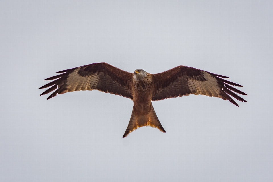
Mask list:
[{"label": "whole outstretched brown wing on the picture's right side", "polygon": [[229,77],[216,75],[200,69],[178,66],[168,71],[154,74],[153,77],[156,86],[156,92],[152,98],[153,101],[188,96],[189,94],[201,94],[229,100],[236,106],[238,104],[229,95],[239,101],[247,102],[234,92],[242,95],[247,94],[230,86],[241,87],[241,85],[222,79]]}]

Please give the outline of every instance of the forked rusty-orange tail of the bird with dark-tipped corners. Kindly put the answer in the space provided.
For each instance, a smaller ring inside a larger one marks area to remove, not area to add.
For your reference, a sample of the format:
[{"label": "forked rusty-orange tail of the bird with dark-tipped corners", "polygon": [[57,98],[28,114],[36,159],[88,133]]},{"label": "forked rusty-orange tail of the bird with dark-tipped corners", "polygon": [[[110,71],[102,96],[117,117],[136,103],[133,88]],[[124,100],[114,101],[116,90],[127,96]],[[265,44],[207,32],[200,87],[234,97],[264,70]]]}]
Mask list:
[{"label": "forked rusty-orange tail of the bird with dark-tipped corners", "polygon": [[131,119],[122,138],[126,137],[129,133],[143,126],[158,128],[160,131],[164,133],[166,132],[156,116],[152,103],[150,112],[147,115],[137,115],[134,110],[135,107],[133,107]]}]

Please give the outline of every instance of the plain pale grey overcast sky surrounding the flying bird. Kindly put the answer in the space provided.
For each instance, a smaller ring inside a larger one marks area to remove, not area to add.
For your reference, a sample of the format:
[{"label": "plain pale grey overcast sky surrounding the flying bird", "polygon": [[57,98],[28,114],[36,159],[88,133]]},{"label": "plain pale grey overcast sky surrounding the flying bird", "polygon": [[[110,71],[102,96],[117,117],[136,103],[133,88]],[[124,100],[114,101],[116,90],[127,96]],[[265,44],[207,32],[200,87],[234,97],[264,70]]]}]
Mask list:
[{"label": "plain pale grey overcast sky surrounding the flying bird", "polygon": [[[0,1],[0,181],[272,181],[273,1]],[[122,138],[128,98],[39,96],[55,72],[107,62],[230,77],[248,96],[152,102],[166,133]]]}]

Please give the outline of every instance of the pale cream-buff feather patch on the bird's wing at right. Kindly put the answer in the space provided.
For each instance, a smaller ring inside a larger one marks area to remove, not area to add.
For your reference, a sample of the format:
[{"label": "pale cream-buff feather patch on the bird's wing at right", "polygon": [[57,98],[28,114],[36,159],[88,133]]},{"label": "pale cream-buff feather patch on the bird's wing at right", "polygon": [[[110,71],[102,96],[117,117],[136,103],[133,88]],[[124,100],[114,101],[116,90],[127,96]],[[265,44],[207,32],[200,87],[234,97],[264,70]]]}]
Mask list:
[{"label": "pale cream-buff feather patch on the bird's wing at right", "polygon": [[193,79],[188,80],[188,86],[191,92],[193,92],[195,95],[200,94],[210,97],[219,97],[220,90],[216,78],[213,78],[205,71],[202,71],[202,73],[206,81],[198,81]]}]

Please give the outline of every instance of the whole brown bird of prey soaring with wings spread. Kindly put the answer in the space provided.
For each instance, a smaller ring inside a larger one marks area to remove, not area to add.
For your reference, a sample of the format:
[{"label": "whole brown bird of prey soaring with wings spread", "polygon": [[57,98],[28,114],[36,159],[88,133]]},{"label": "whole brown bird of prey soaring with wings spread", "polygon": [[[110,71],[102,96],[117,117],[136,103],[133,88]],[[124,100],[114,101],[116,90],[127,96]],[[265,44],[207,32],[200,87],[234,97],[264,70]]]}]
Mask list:
[{"label": "whole brown bird of prey soaring with wings spread", "polygon": [[200,94],[228,100],[238,107],[239,105],[230,96],[247,102],[234,93],[247,95],[232,87],[242,87],[241,85],[223,79],[229,77],[188,66],[177,66],[162,73],[150,74],[143,69],[129,73],[108,63],[92,63],[56,73],[61,74],[44,79],[53,81],[39,88],[51,86],[40,96],[54,90],[47,99],[66,92],[98,90],[133,100],[132,115],[123,138],[143,126],[166,132],[151,101]]}]

